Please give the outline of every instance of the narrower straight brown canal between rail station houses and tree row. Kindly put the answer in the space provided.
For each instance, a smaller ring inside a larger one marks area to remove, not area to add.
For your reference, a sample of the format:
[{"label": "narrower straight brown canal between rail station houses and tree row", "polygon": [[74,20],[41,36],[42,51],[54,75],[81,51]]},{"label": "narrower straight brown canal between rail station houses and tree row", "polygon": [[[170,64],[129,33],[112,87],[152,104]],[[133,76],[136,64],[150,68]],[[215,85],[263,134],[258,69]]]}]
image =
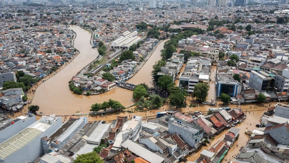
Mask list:
[{"label": "narrower straight brown canal between rail station houses and tree row", "polygon": [[154,86],[151,71],[153,70],[153,65],[157,61],[161,60],[161,50],[164,49],[164,43],[166,41],[167,40],[163,40],[157,45],[150,58],[146,61],[145,65],[127,82],[132,84],[146,83],[149,87]]}]

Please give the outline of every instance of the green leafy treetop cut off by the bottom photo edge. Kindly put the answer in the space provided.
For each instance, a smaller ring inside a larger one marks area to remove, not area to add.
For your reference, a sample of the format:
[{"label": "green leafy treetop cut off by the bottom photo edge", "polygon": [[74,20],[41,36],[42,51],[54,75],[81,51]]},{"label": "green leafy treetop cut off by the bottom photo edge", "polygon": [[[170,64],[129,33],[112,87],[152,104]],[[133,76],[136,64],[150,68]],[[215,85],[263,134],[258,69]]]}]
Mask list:
[{"label": "green leafy treetop cut off by the bottom photo edge", "polygon": [[100,156],[97,155],[95,151],[90,153],[83,153],[78,155],[76,159],[73,161],[74,163],[103,163],[103,160]]}]

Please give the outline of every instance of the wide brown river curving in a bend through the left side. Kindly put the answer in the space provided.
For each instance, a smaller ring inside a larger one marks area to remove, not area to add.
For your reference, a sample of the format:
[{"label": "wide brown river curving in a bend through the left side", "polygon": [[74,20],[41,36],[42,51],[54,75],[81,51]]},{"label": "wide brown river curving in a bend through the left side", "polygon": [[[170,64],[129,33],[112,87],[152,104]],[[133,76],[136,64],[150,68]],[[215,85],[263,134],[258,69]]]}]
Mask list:
[{"label": "wide brown river curving in a bend through the left side", "polygon": [[102,103],[108,99],[120,101],[125,107],[129,106],[132,91],[122,88],[114,88],[107,93],[94,96],[76,95],[69,90],[68,81],[98,56],[97,50],[91,48],[91,35],[88,31],[75,25],[70,29],[77,33],[74,47],[80,54],[65,68],[38,86],[32,104],[39,106],[39,112],[46,114],[52,112],[56,115],[74,114],[77,111],[88,113],[91,104]]}]

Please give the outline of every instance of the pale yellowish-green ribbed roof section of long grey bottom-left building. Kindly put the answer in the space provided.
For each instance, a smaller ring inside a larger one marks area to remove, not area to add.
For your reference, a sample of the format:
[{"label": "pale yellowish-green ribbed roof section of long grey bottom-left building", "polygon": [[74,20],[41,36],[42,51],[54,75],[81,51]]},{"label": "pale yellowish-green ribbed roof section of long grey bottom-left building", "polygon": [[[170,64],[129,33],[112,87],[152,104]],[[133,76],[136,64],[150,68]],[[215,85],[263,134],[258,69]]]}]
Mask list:
[{"label": "pale yellowish-green ribbed roof section of long grey bottom-left building", "polygon": [[3,149],[0,150],[0,158],[5,159],[6,157],[10,156],[12,153],[31,142],[41,133],[42,131],[36,128],[26,128],[22,130],[20,133],[0,144],[0,148],[3,147]]}]

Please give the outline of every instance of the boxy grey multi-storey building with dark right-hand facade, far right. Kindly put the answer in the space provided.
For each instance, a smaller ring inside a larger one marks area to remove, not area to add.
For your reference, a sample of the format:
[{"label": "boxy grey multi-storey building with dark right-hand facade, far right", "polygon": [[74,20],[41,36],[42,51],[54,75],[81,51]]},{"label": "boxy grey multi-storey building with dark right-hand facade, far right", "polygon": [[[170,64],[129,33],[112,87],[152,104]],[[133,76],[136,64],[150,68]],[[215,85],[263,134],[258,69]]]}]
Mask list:
[{"label": "boxy grey multi-storey building with dark right-hand facade, far right", "polygon": [[251,71],[249,86],[259,92],[273,91],[275,75],[266,71]]}]

